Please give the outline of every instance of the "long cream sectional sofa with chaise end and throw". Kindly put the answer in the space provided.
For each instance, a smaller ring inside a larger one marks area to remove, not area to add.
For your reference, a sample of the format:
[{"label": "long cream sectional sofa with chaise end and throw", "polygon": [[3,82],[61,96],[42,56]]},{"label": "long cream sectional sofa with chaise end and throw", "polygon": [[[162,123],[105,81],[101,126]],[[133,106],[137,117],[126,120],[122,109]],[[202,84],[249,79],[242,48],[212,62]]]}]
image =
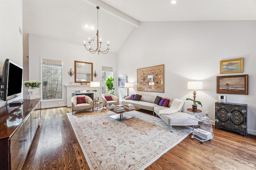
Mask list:
[{"label": "long cream sectional sofa with chaise end and throw", "polygon": [[131,100],[131,96],[128,96],[122,102],[124,104],[133,104],[135,107],[141,109],[152,110],[153,115],[156,113],[163,121],[170,125],[170,131],[172,132],[172,126],[188,126],[198,125],[198,121],[188,118],[191,114],[184,112],[185,102],[179,99],[170,99],[167,107],[154,104],[156,96],[141,95],[140,101]]}]

